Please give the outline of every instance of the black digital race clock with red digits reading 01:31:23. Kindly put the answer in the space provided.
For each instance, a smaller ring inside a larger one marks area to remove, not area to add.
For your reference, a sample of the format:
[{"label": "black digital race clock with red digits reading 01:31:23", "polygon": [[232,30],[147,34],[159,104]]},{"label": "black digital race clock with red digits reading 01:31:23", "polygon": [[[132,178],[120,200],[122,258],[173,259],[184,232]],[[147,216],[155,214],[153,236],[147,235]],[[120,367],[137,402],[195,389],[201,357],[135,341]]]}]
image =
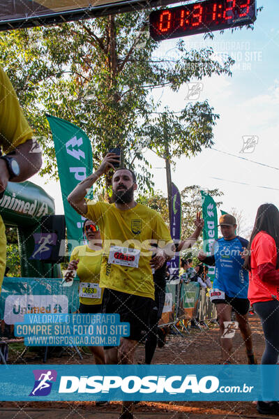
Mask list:
[{"label": "black digital race clock with red digits reading 01:31:23", "polygon": [[149,31],[161,41],[250,24],[256,13],[256,0],[205,0],[151,12]]}]

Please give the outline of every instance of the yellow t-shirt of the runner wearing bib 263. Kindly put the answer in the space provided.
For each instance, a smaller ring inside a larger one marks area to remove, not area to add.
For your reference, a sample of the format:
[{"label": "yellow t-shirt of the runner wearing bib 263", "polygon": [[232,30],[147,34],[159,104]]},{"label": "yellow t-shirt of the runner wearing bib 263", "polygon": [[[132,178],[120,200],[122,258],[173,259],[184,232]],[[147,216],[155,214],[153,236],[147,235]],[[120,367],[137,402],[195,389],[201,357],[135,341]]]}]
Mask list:
[{"label": "yellow t-shirt of the runner wearing bib 263", "polygon": [[[95,283],[100,282],[100,264],[102,261],[103,250],[92,250],[86,244],[77,246],[70,255],[70,260],[80,259],[77,265],[77,276],[81,282]],[[80,297],[82,304],[102,304],[103,292],[100,298]]]}]

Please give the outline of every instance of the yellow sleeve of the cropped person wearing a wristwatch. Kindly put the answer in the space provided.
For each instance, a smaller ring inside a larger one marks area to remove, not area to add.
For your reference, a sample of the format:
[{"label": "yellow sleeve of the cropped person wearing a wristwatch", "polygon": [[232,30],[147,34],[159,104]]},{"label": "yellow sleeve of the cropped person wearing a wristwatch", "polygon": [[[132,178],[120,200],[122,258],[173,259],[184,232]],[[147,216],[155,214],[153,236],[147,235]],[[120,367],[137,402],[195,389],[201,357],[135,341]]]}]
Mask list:
[{"label": "yellow sleeve of the cropped person wearing a wristwatch", "polygon": [[0,144],[6,154],[33,136],[15,89],[0,66]]}]

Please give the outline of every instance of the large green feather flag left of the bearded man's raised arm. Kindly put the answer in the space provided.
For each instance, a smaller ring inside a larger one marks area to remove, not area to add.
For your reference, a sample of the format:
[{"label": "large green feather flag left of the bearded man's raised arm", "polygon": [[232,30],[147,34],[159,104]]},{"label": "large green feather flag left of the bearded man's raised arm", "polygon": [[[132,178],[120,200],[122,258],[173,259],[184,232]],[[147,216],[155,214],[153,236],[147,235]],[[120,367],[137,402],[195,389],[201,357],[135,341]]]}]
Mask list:
[{"label": "large green feather flag left of the bearded man's raised arm", "polygon": [[[91,143],[84,131],[70,122],[51,115],[47,115],[47,120],[52,130],[68,244],[69,250],[72,251],[75,246],[81,244],[84,217],[70,206],[67,197],[75,186],[93,171]],[[90,196],[91,192],[89,191],[87,196]]]}]

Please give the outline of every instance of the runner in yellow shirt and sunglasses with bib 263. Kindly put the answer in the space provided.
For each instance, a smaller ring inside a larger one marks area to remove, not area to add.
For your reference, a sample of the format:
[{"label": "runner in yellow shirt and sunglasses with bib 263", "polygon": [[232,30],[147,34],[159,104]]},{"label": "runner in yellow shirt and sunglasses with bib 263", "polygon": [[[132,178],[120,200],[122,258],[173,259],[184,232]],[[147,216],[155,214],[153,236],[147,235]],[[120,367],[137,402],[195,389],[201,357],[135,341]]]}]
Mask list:
[{"label": "runner in yellow shirt and sunglasses with bib 263", "polygon": [[[96,314],[102,312],[104,291],[104,288],[99,287],[102,240],[100,230],[93,221],[86,219],[83,230],[87,244],[73,249],[68,269],[77,270],[77,276],[80,278],[80,313]],[[89,348],[96,364],[105,364],[103,346],[89,346]]]}]

